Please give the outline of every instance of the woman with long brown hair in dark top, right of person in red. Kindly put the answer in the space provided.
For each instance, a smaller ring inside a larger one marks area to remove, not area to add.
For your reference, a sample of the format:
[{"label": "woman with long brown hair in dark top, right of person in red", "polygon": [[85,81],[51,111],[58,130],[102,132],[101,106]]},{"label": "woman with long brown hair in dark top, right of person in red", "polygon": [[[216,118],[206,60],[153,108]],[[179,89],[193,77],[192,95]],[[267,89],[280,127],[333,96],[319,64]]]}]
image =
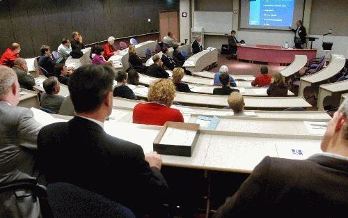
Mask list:
[{"label": "woman with long brown hair in dark top, right of person in red", "polygon": [[280,72],[275,72],[272,75],[271,84],[267,89],[267,95],[271,97],[286,97],[287,85],[285,84],[285,77]]}]

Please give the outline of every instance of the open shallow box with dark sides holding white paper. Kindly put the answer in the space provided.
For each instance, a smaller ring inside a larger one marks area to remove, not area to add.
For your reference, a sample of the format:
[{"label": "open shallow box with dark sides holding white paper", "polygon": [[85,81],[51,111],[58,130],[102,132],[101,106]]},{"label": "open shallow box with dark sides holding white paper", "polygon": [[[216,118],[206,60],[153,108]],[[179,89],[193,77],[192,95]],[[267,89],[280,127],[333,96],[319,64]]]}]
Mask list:
[{"label": "open shallow box with dark sides holding white paper", "polygon": [[199,124],[166,122],[153,142],[153,150],[161,155],[191,157],[198,137]]}]

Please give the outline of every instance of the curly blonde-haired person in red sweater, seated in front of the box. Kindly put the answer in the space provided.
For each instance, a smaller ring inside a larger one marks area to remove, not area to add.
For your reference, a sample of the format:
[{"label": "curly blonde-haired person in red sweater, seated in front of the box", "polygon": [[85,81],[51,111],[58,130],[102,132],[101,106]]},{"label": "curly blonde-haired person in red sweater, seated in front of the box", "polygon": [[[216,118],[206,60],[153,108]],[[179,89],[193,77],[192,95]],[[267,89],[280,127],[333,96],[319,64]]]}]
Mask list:
[{"label": "curly blonde-haired person in red sweater, seated in front of the box", "polygon": [[184,122],[177,109],[171,108],[175,98],[175,86],[170,79],[158,79],[150,84],[147,103],[136,104],[133,123],[164,125],[166,121]]}]

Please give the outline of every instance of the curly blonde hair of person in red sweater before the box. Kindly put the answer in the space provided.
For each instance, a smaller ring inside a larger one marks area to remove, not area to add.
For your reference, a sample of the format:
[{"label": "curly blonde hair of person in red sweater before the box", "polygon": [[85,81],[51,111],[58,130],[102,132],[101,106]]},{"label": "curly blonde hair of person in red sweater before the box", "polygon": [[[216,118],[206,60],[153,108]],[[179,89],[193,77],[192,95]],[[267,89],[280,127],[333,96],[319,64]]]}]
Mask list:
[{"label": "curly blonde hair of person in red sweater before the box", "polygon": [[170,79],[157,79],[150,84],[148,92],[149,102],[158,102],[171,107],[175,98],[175,86]]}]

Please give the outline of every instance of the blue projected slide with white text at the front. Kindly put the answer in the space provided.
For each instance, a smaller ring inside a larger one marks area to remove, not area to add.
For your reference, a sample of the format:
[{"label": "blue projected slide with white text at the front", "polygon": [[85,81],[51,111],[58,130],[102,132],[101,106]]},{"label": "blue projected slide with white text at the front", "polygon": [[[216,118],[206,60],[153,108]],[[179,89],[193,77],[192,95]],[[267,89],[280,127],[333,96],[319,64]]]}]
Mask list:
[{"label": "blue projected slide with white text at the front", "polygon": [[295,0],[256,0],[250,2],[250,26],[292,26]]}]

